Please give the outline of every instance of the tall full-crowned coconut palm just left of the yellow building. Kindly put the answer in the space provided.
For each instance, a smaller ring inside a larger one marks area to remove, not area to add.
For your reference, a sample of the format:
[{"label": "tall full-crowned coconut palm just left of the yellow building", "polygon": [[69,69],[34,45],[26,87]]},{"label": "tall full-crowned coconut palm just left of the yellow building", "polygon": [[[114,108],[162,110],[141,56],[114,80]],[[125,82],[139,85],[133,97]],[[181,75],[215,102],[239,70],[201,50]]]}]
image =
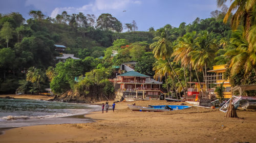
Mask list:
[{"label": "tall full-crowned coconut palm just left of the yellow building", "polygon": [[216,44],[213,33],[208,33],[207,31],[201,32],[196,40],[196,47],[193,51],[188,53],[188,56],[191,57],[190,63],[192,67],[194,67],[195,70],[199,69],[202,71],[205,80],[206,91],[208,92],[206,70],[212,63],[212,59],[214,59],[216,56],[215,52],[218,50],[218,45]]}]

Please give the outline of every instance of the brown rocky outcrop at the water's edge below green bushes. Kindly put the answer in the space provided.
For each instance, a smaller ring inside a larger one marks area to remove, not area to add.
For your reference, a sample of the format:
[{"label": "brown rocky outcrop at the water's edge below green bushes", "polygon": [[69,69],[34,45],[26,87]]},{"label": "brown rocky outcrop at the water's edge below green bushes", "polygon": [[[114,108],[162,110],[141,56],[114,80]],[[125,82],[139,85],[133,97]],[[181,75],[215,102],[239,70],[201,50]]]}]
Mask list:
[{"label": "brown rocky outcrop at the water's edge below green bushes", "polygon": [[89,94],[79,94],[73,90],[67,91],[62,95],[56,95],[54,101],[71,102],[71,103],[94,103],[102,100],[114,100],[114,93],[105,95],[98,86],[92,86]]}]

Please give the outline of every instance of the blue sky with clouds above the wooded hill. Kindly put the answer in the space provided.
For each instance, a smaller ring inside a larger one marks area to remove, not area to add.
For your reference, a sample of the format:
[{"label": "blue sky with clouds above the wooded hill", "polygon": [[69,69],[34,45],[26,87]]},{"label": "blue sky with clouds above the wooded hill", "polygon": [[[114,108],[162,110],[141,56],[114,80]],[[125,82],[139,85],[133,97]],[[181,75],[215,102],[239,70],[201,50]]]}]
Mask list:
[{"label": "blue sky with clouds above the wooded hill", "polygon": [[96,17],[110,13],[123,25],[135,20],[138,31],[147,31],[151,26],[156,30],[166,24],[178,27],[181,22],[188,24],[197,17],[209,18],[216,9],[216,0],[0,0],[2,14],[19,12],[28,19],[30,10],[40,10],[53,18],[62,11]]}]

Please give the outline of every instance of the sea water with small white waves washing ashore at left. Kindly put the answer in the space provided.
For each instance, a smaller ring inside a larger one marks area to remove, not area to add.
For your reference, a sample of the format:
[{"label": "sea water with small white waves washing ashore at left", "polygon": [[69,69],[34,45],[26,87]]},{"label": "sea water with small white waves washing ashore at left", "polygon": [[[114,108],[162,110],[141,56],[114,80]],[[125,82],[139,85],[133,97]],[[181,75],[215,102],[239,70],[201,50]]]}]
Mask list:
[{"label": "sea water with small white waves washing ashore at left", "polygon": [[79,115],[100,109],[90,104],[0,98],[0,128],[88,123],[93,120]]}]

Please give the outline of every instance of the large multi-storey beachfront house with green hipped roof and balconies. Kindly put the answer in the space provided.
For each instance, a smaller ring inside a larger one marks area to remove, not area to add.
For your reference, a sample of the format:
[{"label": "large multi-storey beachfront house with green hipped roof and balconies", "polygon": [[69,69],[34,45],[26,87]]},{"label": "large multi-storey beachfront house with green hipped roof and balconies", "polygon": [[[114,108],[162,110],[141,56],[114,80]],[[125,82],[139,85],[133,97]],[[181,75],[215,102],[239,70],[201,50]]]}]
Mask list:
[{"label": "large multi-storey beachfront house with green hipped roof and balconies", "polygon": [[111,79],[115,87],[115,101],[134,101],[160,99],[162,82],[156,81],[150,76],[129,71]]}]

